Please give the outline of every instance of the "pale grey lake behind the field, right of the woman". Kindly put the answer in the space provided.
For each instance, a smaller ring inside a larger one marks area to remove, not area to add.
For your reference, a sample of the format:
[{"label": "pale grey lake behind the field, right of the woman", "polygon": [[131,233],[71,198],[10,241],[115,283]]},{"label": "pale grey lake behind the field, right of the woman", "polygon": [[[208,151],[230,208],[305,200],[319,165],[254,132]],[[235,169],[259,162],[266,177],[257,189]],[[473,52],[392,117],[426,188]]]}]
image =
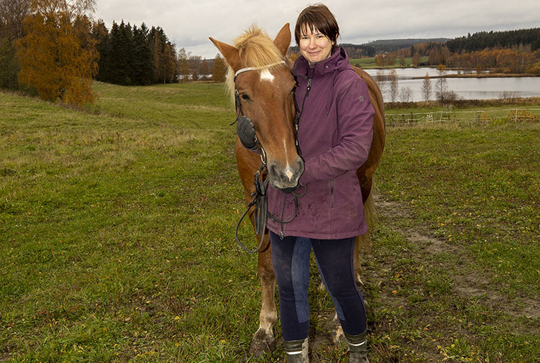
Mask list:
[{"label": "pale grey lake behind the field, right of the woman", "polygon": [[[377,69],[366,69],[367,73],[376,78]],[[388,75],[390,69],[383,69]],[[429,73],[432,84],[432,100],[436,99],[435,86],[437,69],[434,68],[404,68],[396,69],[398,96],[396,101],[403,101],[399,93],[409,87],[409,101],[424,101],[422,97],[422,82]],[[447,71],[446,74],[457,74],[457,71]],[[448,91],[455,92],[462,99],[501,99],[503,92],[512,97],[540,97],[540,77],[508,77],[508,78],[446,78]],[[383,86],[384,88],[384,86]],[[388,88],[388,87],[387,87]],[[388,90],[384,92],[386,101],[390,99]]]}]

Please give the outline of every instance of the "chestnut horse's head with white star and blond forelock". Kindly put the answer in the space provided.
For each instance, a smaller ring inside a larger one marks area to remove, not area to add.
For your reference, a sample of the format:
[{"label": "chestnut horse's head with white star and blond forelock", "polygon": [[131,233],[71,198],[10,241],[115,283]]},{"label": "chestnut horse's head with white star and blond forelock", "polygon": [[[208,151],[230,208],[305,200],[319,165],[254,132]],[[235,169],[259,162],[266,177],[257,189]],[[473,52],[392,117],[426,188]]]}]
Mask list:
[{"label": "chestnut horse's head with white star and blond forelock", "polygon": [[234,46],[210,38],[229,66],[227,86],[236,99],[236,113],[253,120],[268,178],[280,189],[297,185],[304,172],[294,133],[296,83],[285,57],[290,39],[288,23],[273,41],[256,27],[237,38]]}]

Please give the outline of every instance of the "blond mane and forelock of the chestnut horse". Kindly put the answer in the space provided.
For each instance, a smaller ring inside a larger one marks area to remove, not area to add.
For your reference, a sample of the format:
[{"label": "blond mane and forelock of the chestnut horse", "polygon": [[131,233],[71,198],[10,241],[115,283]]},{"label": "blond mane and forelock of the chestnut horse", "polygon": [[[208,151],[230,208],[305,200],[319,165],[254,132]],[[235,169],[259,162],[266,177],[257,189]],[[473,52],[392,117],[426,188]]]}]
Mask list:
[{"label": "blond mane and forelock of the chestnut horse", "polygon": [[[267,32],[253,24],[241,36],[234,39],[243,67],[263,67],[285,60]],[[287,61],[286,61],[287,62]],[[234,100],[234,70],[229,67],[227,90]]]}]

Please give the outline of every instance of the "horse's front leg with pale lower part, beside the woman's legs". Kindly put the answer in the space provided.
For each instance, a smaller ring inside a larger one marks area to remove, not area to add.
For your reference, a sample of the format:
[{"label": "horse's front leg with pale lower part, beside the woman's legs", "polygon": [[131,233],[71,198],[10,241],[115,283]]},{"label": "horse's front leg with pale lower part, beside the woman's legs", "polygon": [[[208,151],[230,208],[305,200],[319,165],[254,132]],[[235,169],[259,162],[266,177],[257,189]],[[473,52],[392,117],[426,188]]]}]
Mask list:
[{"label": "horse's front leg with pale lower part, beside the woman's legs", "polygon": [[276,276],[273,274],[272,255],[270,250],[270,236],[267,232],[262,237],[263,243],[257,259],[257,272],[261,280],[262,304],[259,329],[253,334],[250,353],[255,357],[262,353],[269,353],[276,348],[276,339],[273,336],[273,325],[278,320],[276,311]]}]

